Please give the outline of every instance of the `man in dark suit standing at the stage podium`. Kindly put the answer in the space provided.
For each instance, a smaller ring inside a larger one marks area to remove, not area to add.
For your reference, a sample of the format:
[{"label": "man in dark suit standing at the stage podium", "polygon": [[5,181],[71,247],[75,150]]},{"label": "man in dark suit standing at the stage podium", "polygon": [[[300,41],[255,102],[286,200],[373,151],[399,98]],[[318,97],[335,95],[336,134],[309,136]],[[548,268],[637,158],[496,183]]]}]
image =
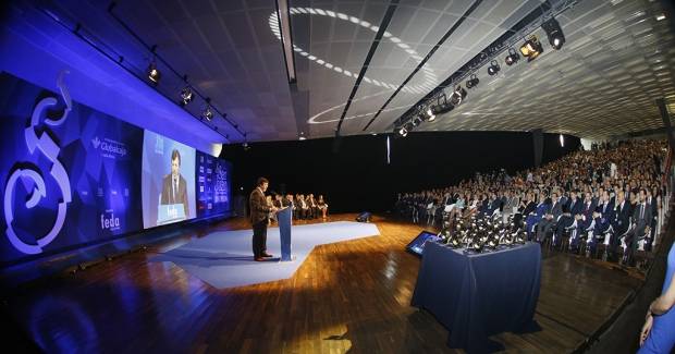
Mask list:
[{"label": "man in dark suit standing at the stage podium", "polygon": [[269,185],[266,178],[259,178],[256,188],[250,192],[248,205],[250,207],[250,223],[254,229],[253,252],[254,260],[263,261],[265,258],[272,257],[267,253],[267,223],[270,212],[279,210],[273,205],[268,205],[265,198],[265,191]]}]

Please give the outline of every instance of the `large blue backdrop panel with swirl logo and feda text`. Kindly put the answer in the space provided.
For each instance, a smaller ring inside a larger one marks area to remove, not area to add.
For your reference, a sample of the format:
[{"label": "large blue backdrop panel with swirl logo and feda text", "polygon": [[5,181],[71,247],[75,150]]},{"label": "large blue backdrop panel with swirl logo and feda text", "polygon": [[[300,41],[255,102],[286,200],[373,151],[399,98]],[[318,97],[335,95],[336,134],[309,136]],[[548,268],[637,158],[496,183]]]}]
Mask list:
[{"label": "large blue backdrop panel with swirl logo and feda text", "polygon": [[0,74],[0,261],[140,229],[143,130]]}]

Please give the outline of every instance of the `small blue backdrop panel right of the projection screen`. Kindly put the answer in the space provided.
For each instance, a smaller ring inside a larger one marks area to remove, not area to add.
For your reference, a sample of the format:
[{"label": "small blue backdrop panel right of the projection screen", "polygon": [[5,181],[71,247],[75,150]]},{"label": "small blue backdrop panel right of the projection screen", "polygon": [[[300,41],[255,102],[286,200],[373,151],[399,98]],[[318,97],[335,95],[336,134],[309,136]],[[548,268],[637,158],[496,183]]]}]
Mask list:
[{"label": "small blue backdrop panel right of the projection screen", "polygon": [[197,151],[197,217],[220,215],[231,209],[231,166],[225,160]]}]

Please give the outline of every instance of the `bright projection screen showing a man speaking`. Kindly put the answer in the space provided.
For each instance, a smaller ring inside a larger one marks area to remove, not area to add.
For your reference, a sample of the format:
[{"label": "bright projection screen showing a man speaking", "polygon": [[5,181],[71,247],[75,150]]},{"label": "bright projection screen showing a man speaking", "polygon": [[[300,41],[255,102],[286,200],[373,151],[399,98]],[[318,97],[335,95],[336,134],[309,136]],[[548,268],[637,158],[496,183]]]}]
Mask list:
[{"label": "bright projection screen showing a man speaking", "polygon": [[143,225],[152,228],[197,216],[195,149],[145,131],[143,138]]}]

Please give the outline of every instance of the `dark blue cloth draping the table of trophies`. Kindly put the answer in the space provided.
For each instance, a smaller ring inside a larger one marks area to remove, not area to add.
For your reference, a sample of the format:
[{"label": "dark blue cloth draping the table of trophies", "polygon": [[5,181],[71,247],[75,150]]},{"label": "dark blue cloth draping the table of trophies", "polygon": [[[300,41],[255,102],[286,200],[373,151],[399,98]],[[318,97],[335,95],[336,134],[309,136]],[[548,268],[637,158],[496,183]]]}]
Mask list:
[{"label": "dark blue cloth draping the table of trophies", "polygon": [[450,331],[447,345],[480,352],[488,337],[531,324],[541,283],[541,248],[465,254],[438,243],[425,247],[412,305]]}]

